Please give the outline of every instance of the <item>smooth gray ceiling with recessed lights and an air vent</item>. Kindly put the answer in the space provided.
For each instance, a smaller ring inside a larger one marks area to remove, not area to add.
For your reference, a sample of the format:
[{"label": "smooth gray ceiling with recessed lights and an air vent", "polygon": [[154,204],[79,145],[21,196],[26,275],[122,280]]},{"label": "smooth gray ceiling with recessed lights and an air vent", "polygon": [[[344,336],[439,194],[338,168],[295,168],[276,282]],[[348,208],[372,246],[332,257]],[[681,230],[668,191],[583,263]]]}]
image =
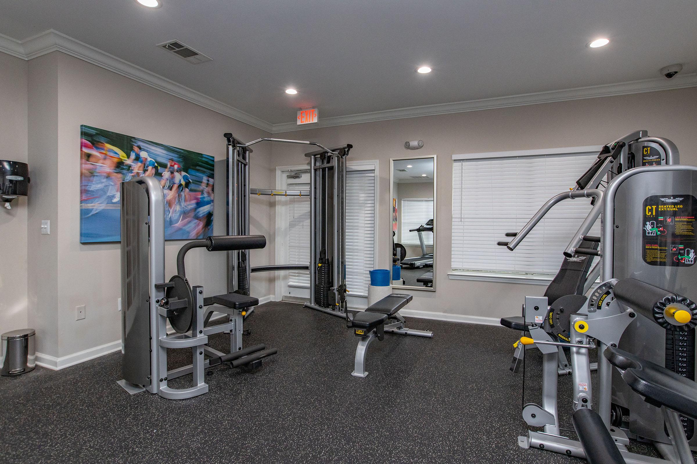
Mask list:
[{"label": "smooth gray ceiling with recessed lights and an air vent", "polygon": [[[271,123],[697,70],[695,0],[162,1],[0,0],[0,33],[55,29]],[[213,61],[155,47],[171,39]]]}]

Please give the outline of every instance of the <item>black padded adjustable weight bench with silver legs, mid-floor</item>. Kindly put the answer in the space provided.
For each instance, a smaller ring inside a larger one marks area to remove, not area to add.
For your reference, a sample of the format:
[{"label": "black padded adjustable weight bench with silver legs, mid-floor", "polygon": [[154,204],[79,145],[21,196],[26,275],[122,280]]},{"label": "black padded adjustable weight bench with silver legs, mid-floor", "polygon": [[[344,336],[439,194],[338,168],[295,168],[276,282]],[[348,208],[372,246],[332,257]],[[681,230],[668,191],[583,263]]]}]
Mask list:
[{"label": "black padded adjustable weight bench with silver legs, mid-floor", "polygon": [[[406,294],[391,294],[385,296],[377,303],[370,305],[365,311],[355,314],[351,320],[351,328],[356,337],[360,337],[358,348],[355,350],[352,376],[365,377],[365,356],[368,346],[374,339],[383,340],[385,332],[399,333],[401,335],[415,335],[417,337],[433,337],[430,330],[414,330],[404,327],[404,317],[399,310],[405,307],[413,297]],[[385,323],[387,323],[385,325]]]}]

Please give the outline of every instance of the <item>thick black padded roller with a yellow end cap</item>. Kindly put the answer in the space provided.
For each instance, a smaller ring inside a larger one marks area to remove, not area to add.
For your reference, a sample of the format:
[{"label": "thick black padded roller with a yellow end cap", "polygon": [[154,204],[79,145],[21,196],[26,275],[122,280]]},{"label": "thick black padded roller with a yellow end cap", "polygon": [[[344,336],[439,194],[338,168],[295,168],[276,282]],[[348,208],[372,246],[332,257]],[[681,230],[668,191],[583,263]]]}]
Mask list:
[{"label": "thick black padded roller with a yellow end cap", "polygon": [[[631,307],[639,314],[659,324],[663,328],[673,330],[690,330],[697,324],[697,305],[689,298],[675,294],[673,291],[661,289],[654,285],[636,279],[622,279],[613,288],[613,294],[623,305]],[[664,312],[668,305],[680,303],[692,312],[692,321],[684,326],[675,326],[666,320]]]}]

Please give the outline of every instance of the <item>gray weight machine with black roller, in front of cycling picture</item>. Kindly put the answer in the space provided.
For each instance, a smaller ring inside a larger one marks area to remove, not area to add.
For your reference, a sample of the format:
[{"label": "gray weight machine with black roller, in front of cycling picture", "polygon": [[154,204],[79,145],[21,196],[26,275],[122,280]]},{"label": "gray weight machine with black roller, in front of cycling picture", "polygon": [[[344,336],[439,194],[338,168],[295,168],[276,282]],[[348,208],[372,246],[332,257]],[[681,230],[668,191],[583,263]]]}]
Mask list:
[{"label": "gray weight machine with black roller, in front of cycling picture", "polygon": [[[243,320],[259,300],[238,293],[204,297],[204,287],[191,286],[184,259],[192,248],[208,251],[264,248],[263,235],[208,237],[186,243],[177,256],[177,275],[164,282],[164,195],[153,177],[121,184],[121,301],[123,356],[118,381],[131,394],[148,391],[167,399],[208,392],[204,370],[215,365],[258,367],[277,353],[263,344],[242,347]],[[210,307],[215,305],[214,307]],[[208,326],[213,312],[228,321]],[[167,321],[175,334],[167,334]],[[208,346],[208,336],[229,331],[230,353]],[[167,370],[167,349],[191,349],[192,364]],[[206,359],[206,355],[208,359]],[[192,374],[193,385],[174,388],[174,378]]]}]

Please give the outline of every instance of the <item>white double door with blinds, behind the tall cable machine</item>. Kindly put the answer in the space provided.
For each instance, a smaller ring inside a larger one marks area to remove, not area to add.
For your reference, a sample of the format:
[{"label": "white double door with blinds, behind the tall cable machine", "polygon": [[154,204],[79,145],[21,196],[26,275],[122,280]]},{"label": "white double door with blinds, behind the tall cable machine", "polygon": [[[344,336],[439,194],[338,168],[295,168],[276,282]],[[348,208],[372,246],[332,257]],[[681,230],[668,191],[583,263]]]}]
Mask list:
[{"label": "white double door with blinds, behind the tall cable machine", "polygon": [[[302,167],[279,172],[279,189],[309,190],[309,173]],[[346,287],[348,305],[365,307],[368,271],[374,269],[376,227],[376,175],[372,163],[348,163],[346,172]],[[279,199],[276,262],[309,263],[309,197]],[[309,273],[287,271],[277,276],[282,298],[309,298]]]}]

